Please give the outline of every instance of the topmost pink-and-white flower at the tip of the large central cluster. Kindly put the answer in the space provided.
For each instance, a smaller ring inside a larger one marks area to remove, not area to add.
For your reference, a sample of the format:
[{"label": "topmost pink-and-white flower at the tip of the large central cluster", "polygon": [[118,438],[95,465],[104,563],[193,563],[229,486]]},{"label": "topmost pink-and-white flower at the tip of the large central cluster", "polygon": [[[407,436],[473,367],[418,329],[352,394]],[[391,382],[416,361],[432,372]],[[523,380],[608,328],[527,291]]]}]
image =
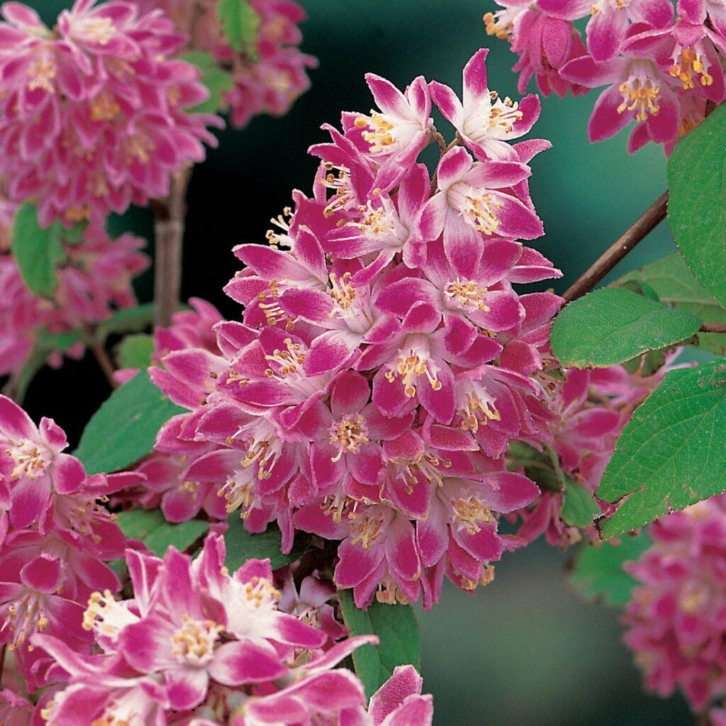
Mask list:
[{"label": "topmost pink-and-white flower at the tip of the large central cluster", "polygon": [[539,118],[539,99],[529,95],[521,102],[501,99],[486,85],[486,56],[478,50],[464,67],[463,103],[443,83],[429,84],[433,102],[459,132],[476,158],[518,161],[508,141],[528,133]]}]

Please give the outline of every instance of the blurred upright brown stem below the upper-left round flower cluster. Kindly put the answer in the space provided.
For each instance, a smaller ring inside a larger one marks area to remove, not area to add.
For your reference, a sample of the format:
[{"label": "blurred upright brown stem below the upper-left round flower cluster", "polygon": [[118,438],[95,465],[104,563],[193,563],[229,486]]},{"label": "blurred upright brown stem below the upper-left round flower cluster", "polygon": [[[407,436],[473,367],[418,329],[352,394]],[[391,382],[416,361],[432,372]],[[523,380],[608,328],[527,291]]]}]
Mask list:
[{"label": "blurred upright brown stem below the upper-left round flower cluster", "polygon": [[154,213],[154,322],[166,327],[179,307],[181,291],[181,248],[190,169],[171,177],[169,195],[152,203]]}]

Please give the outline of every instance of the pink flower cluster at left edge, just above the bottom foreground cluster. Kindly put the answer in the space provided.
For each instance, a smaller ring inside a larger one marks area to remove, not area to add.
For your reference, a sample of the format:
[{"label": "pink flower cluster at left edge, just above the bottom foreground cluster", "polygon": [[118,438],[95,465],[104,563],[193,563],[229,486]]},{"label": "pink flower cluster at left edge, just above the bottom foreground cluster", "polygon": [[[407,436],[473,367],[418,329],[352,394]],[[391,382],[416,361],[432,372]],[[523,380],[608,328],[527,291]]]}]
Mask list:
[{"label": "pink flower cluster at left edge, just above the bottom foreground cluster", "polygon": [[36,426],[0,396],[0,644],[31,691],[53,667],[33,635],[53,635],[84,652],[90,636],[81,626],[91,592],[120,589],[106,563],[123,555],[126,539],[103,502],[141,479],[86,476],[81,462],[63,453],[66,446],[53,420]]}]

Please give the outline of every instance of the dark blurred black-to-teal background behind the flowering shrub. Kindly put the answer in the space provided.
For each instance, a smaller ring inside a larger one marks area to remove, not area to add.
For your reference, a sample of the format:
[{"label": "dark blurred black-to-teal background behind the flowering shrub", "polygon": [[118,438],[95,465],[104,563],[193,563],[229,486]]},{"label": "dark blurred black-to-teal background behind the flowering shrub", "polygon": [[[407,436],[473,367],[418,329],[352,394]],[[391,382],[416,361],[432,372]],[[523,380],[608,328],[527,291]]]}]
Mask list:
[{"label": "dark blurred black-to-teal background behind the flowering shrub", "polygon": [[[28,0],[26,0],[28,1]],[[52,24],[62,0],[30,0]],[[237,306],[222,286],[238,269],[229,251],[264,242],[270,217],[291,189],[311,189],[316,161],[306,148],[325,139],[321,123],[340,110],[368,111],[364,73],[399,87],[423,74],[460,90],[461,70],[480,46],[489,55],[489,86],[518,97],[504,41],[488,38],[481,17],[489,0],[303,0],[309,19],[303,49],[319,58],[312,89],[284,118],[256,118],[241,132],[219,134],[219,149],[195,169],[189,189],[183,295],[215,303],[227,317]],[[532,90],[532,89],[530,89]],[[544,100],[535,136],[552,150],[534,160],[531,193],[547,236],[535,242],[565,277],[563,291],[635,221],[665,188],[665,159],[649,146],[629,156],[627,136],[587,141],[595,94]],[[442,127],[443,128],[443,127]],[[448,131],[445,135],[451,135]],[[113,221],[115,232],[151,237],[146,210]],[[666,224],[650,234],[614,274],[674,250]],[[151,277],[139,280],[151,297]],[[107,396],[92,360],[45,370],[26,400],[33,417],[54,417],[73,441]],[[568,555],[542,543],[507,555],[494,584],[474,597],[453,587],[431,613],[420,613],[423,674],[436,703],[436,726],[679,726],[693,723],[685,703],[644,696],[621,644],[617,611],[584,603],[566,585]]]}]

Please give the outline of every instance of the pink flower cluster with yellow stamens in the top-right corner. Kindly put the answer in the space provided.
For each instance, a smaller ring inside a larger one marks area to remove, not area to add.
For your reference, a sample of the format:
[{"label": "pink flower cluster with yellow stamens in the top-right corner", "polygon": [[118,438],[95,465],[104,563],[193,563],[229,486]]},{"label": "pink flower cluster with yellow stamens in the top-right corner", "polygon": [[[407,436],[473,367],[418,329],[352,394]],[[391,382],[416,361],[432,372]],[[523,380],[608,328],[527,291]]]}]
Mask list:
[{"label": "pink flower cluster with yellow stamens in the top-right corner", "polygon": [[[520,91],[532,76],[544,95],[607,86],[588,132],[608,139],[635,122],[628,149],[649,141],[670,152],[726,95],[723,0],[497,0],[486,32],[519,60]],[[583,44],[574,21],[589,17]]]}]

